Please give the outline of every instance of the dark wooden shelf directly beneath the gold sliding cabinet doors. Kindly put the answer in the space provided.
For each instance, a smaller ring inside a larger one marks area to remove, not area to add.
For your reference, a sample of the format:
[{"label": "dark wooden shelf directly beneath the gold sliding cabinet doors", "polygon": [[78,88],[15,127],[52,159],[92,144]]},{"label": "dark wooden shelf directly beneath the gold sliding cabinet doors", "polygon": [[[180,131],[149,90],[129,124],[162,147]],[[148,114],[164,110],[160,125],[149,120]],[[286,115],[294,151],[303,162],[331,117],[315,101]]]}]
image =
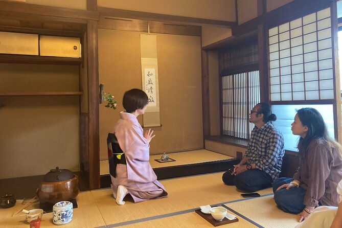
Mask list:
[{"label": "dark wooden shelf directly beneath the gold sliding cabinet doors", "polygon": [[0,63],[80,65],[82,58],[0,54]]}]

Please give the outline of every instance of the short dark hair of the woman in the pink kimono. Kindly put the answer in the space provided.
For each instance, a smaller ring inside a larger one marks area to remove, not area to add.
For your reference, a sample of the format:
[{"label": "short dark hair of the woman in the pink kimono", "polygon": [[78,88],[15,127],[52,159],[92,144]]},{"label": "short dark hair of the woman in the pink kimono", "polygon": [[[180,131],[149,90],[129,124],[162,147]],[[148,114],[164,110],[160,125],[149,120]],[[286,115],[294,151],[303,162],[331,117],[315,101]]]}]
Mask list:
[{"label": "short dark hair of the woman in the pink kimono", "polygon": [[122,99],[122,105],[126,109],[126,112],[129,113],[134,112],[136,109],[142,109],[147,104],[147,94],[139,88],[132,88],[126,91]]}]

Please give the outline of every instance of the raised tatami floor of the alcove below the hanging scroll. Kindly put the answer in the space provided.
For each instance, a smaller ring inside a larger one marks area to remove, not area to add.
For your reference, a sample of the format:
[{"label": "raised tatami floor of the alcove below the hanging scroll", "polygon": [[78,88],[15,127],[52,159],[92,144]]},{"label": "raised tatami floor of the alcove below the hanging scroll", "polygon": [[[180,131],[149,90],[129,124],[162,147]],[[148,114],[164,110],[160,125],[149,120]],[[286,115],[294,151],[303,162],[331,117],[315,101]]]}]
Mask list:
[{"label": "raised tatami floor of the alcove below the hanging scroll", "polygon": [[[166,162],[166,163],[158,163],[155,159],[160,159],[162,154],[150,155],[150,164],[152,168],[161,168],[161,167],[169,167],[169,166],[179,166],[179,165],[188,165],[188,164],[196,164],[203,162],[213,162],[213,161],[221,161],[226,159],[234,159],[234,157],[227,156],[224,154],[216,153],[210,150],[191,150],[185,152],[175,152],[168,154],[170,158],[174,159],[175,162]],[[108,161],[100,161],[100,174],[105,175],[109,174],[109,166]]]}]

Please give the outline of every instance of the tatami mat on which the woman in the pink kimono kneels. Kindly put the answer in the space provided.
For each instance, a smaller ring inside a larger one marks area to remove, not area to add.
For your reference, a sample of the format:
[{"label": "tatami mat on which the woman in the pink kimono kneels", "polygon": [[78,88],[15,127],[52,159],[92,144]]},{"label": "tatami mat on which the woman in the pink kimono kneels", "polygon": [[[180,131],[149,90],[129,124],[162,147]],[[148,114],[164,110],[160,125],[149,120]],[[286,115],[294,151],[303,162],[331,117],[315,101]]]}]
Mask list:
[{"label": "tatami mat on which the woman in the pink kimono kneels", "polygon": [[[95,190],[92,194],[107,225],[242,199],[234,186],[222,183],[222,172],[162,180],[161,183],[169,192],[167,198],[139,203],[126,200],[125,206],[116,204],[111,189]],[[259,193],[264,195],[271,191],[265,189]]]}]

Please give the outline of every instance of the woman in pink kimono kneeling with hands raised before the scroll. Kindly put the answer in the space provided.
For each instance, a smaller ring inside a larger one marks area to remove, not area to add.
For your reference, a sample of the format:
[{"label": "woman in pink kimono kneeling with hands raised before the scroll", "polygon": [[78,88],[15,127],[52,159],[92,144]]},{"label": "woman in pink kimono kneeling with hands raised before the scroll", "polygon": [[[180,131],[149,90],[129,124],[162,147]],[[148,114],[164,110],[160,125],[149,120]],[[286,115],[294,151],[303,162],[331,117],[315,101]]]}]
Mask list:
[{"label": "woman in pink kimono kneeling with hands raised before the scroll", "polygon": [[120,148],[124,152],[126,164],[117,164],[116,177],[111,177],[113,196],[119,205],[125,204],[123,198],[129,193],[134,202],[168,195],[159,183],[150,163],[149,142],[155,135],[149,129],[143,135],[143,128],[136,117],[144,114],[148,97],[143,90],[133,88],[124,94],[120,120],[114,131]]}]

